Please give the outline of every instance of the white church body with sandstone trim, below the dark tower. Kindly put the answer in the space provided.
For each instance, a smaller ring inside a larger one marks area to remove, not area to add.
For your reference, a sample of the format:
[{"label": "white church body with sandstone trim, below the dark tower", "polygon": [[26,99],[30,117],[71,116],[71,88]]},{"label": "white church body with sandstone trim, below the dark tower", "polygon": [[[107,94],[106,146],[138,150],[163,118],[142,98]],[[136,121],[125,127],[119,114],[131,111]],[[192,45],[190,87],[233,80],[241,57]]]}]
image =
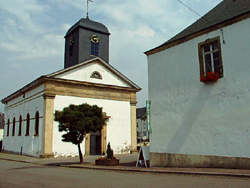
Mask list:
[{"label": "white church body with sandstone trim, below the dark tower", "polygon": [[[94,72],[98,72],[101,79],[92,78],[91,75]],[[70,104],[82,103],[102,107],[103,112],[110,117],[106,123],[107,135],[105,135],[105,140],[107,143],[110,142],[114,153],[124,152],[130,149],[132,144],[136,145],[132,143],[136,140],[134,138],[136,137],[136,130],[135,128],[132,130],[132,122],[134,118],[135,124],[135,94],[140,89],[117,72],[113,67],[96,58],[73,68],[70,67],[40,77],[3,99],[6,122],[3,150],[36,157],[78,155],[76,145],[61,141],[63,132],[59,132],[58,123],[53,121],[53,117],[56,110],[63,110]],[[38,86],[34,86],[36,84]],[[88,87],[92,89],[91,92],[88,92],[90,89],[86,89]],[[24,92],[27,88],[28,90]],[[83,88],[83,90],[79,88]],[[74,89],[77,91],[72,91]],[[124,93],[121,91],[124,91]],[[82,92],[85,92],[84,97],[79,96]],[[99,92],[99,95],[95,95],[95,92]],[[102,95],[104,92],[105,95]],[[97,98],[93,96],[97,96]],[[132,102],[133,107],[131,107]],[[35,135],[36,112],[39,112],[39,135]],[[26,136],[27,114],[30,115],[28,136]],[[20,116],[22,117],[21,135],[18,134]],[[14,118],[15,133],[13,136]],[[10,125],[9,135],[7,136],[8,120]],[[50,129],[52,126],[53,129]],[[85,143],[83,142],[81,146],[84,154]]]}]

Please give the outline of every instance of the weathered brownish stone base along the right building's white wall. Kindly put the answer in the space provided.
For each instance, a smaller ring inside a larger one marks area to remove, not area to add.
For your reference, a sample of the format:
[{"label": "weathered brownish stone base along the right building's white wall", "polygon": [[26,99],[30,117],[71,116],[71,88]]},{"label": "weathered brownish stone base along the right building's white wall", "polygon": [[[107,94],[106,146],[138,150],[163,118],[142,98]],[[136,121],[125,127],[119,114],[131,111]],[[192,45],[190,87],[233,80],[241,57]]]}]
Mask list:
[{"label": "weathered brownish stone base along the right building's white wall", "polygon": [[151,167],[250,169],[250,158],[150,153]]}]

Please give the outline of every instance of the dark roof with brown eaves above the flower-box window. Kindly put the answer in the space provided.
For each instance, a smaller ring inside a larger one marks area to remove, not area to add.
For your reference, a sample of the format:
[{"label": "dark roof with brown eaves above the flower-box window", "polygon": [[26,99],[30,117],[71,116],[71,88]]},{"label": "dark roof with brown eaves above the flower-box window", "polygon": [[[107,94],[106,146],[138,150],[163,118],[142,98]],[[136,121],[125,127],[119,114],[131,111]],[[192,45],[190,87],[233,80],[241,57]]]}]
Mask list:
[{"label": "dark roof with brown eaves above the flower-box window", "polygon": [[[189,39],[199,36],[199,33],[207,33],[212,30],[220,29],[225,25],[232,24],[232,21],[238,17],[244,16],[250,13],[250,1],[249,0],[223,0],[216,7],[210,10],[207,14],[201,17],[199,20],[191,24],[189,27],[175,35],[173,38],[163,43],[162,45],[148,50],[146,55],[157,53],[161,50],[167,49],[171,46],[180,44]],[[249,17],[249,16],[247,16]],[[247,17],[243,17],[245,19]],[[228,22],[227,24],[225,24]],[[221,24],[225,25],[221,25]],[[190,37],[194,35],[193,37]]]}]

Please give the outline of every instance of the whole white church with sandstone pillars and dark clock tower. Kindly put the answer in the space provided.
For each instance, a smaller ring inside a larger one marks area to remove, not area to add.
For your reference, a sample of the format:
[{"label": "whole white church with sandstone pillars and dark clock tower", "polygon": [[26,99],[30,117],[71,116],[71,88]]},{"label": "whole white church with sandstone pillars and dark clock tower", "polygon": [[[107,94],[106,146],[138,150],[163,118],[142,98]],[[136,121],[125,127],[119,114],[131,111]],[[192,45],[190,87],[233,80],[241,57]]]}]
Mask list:
[{"label": "whole white church with sandstone pillars and dark clock tower", "polygon": [[141,88],[109,64],[106,26],[80,19],[66,33],[64,69],[43,75],[2,99],[5,105],[3,150],[36,156],[77,155],[62,142],[56,110],[70,104],[102,107],[108,119],[82,143],[85,155],[101,155],[110,142],[114,153],[136,148],[136,92]]}]

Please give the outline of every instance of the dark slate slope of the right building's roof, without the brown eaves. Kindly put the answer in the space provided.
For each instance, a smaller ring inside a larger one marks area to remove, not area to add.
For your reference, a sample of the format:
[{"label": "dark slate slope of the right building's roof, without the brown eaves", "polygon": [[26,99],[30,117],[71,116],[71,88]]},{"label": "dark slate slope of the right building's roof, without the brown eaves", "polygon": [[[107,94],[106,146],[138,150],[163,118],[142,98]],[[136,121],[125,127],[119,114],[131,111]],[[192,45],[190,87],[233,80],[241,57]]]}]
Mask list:
[{"label": "dark slate slope of the right building's roof, without the brown eaves", "polygon": [[[250,12],[250,0],[223,0],[216,7],[210,10],[199,20],[191,24],[189,27],[175,35],[173,38],[163,43],[162,45],[151,50],[166,46],[180,39],[183,39],[192,34],[203,31],[212,26],[221,24],[228,20],[234,19]],[[150,52],[148,50],[147,52]],[[145,52],[145,53],[147,53]]]}]

